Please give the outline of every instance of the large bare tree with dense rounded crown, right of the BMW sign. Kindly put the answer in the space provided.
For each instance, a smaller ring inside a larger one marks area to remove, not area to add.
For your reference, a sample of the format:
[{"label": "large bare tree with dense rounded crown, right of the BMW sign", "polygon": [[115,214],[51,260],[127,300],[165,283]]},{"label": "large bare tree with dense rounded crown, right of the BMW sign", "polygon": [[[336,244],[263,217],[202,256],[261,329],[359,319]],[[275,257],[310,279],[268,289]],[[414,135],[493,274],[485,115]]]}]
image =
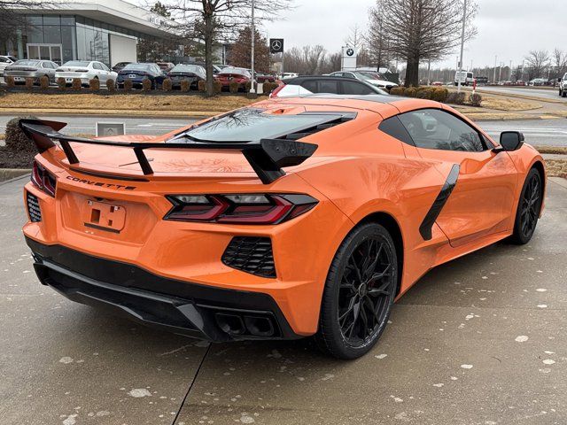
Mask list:
[{"label": "large bare tree with dense rounded crown, right of the BMW sign", "polygon": [[[419,83],[421,59],[443,58],[459,44],[463,7],[455,0],[377,0],[370,13],[381,17],[381,27],[370,30],[382,35],[385,50],[407,60],[407,87]],[[470,0],[464,13],[466,40],[476,35],[472,25],[476,13],[477,4]]]}]

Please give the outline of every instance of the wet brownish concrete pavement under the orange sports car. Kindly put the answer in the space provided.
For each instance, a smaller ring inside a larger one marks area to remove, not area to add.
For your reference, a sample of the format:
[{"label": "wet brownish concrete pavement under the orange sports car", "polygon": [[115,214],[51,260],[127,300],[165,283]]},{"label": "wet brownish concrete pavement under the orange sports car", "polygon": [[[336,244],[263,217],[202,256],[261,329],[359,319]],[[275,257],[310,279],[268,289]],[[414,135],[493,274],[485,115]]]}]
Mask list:
[{"label": "wet brownish concrete pavement under the orange sports car", "polygon": [[306,340],[209,346],[67,301],[35,278],[26,181],[0,185],[3,424],[565,423],[564,180],[531,243],[431,271],[351,362]]}]

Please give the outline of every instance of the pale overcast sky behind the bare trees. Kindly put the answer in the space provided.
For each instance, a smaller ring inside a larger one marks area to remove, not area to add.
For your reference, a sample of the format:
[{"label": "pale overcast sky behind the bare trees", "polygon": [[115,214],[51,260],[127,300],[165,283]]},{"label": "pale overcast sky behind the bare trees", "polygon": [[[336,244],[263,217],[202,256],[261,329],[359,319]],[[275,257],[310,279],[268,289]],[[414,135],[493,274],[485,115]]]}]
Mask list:
[{"label": "pale overcast sky behind the bare trees", "polygon": [[[454,0],[462,1],[462,0]],[[269,37],[285,39],[285,47],[322,44],[330,52],[340,50],[349,28],[366,29],[368,9],[375,0],[295,0],[296,8],[283,13],[285,20],[266,24]],[[477,37],[465,44],[463,64],[516,66],[529,50],[567,50],[566,0],[478,0]],[[439,65],[456,65],[458,52]]]}]

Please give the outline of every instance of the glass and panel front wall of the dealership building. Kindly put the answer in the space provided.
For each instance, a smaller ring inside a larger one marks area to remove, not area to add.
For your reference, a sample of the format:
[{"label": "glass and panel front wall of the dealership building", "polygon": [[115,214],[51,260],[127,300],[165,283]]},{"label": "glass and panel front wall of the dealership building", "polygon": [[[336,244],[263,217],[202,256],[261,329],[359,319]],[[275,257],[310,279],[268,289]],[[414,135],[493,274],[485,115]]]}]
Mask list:
[{"label": "glass and panel front wall of the dealership building", "polygon": [[155,40],[128,28],[116,27],[93,19],[76,15],[28,15],[27,26],[22,36],[24,53],[27,58],[37,54],[53,56],[49,46],[60,45],[60,58],[50,58],[54,62],[64,63],[68,60],[98,60],[111,66],[110,35],[121,35],[132,39]]}]

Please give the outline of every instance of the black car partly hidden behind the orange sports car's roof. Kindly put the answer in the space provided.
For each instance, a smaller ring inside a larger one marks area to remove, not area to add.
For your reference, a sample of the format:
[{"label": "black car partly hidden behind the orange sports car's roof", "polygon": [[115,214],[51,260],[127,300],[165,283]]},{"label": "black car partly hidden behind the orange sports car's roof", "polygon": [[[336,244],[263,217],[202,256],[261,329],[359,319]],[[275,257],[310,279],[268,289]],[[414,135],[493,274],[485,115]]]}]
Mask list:
[{"label": "black car partly hidden behind the orange sports car's roof", "polygon": [[388,94],[383,89],[378,89],[366,81],[347,80],[343,77],[311,76],[284,80],[269,97],[302,96],[314,93],[355,96]]}]

